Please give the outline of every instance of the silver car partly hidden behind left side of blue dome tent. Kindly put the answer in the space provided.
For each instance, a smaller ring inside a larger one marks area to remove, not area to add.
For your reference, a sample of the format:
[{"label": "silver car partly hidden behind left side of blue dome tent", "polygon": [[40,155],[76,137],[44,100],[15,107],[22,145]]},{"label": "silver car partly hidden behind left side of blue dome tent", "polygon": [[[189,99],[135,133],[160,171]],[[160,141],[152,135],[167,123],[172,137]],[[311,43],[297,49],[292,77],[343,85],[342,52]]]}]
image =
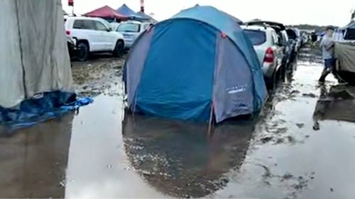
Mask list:
[{"label": "silver car partly hidden behind left side of blue dome tent", "polygon": [[140,21],[126,21],[120,23],[116,31],[124,35],[124,42],[126,44],[126,49],[130,48],[133,45],[133,42],[138,38],[144,30],[148,29],[148,27],[152,25],[152,23],[142,23]]}]

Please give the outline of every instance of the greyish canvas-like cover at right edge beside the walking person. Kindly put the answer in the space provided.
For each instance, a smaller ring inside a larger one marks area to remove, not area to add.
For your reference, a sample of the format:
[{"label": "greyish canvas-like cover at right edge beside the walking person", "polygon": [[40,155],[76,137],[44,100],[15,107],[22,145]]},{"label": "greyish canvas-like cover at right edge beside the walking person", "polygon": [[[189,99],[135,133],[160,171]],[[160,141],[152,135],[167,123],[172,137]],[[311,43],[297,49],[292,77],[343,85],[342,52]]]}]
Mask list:
[{"label": "greyish canvas-like cover at right edge beside the walking person", "polygon": [[336,42],[334,54],[339,79],[355,85],[355,42]]}]

